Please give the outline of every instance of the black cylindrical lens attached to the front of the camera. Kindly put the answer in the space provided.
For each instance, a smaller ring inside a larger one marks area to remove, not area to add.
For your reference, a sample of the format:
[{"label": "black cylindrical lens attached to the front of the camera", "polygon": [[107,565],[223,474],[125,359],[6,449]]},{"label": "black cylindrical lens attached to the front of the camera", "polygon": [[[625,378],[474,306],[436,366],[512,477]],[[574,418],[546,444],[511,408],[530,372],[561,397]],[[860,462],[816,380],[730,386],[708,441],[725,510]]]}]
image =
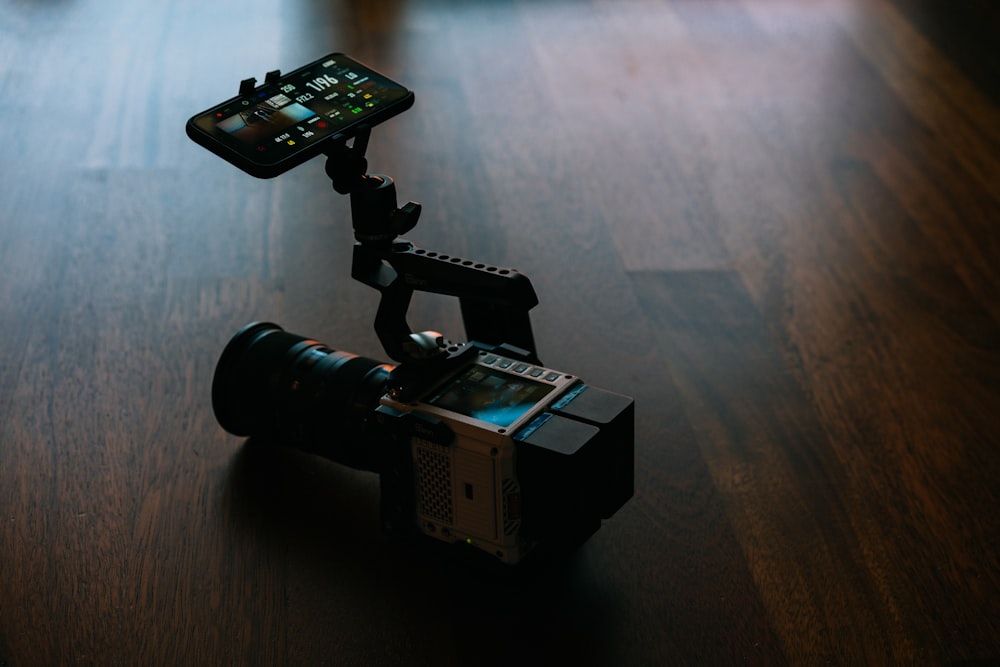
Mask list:
[{"label": "black cylindrical lens attached to the front of the camera", "polygon": [[234,435],[275,441],[370,469],[364,430],[392,367],[254,322],[226,345],[212,407]]}]

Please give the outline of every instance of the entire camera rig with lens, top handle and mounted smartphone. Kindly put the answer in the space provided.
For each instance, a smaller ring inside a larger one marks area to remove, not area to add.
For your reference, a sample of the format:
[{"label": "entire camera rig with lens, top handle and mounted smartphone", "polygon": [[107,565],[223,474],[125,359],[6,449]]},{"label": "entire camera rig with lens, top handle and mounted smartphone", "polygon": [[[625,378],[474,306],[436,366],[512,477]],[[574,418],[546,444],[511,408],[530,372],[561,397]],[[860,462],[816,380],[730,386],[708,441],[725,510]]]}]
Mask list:
[{"label": "entire camera rig with lens, top handle and mounted smartphone", "polygon": [[[385,529],[465,544],[501,562],[586,540],[631,496],[631,398],[544,366],[526,276],[399,238],[420,205],[368,175],[371,127],[413,93],[331,54],[192,117],[188,135],[248,173],[276,176],[320,153],[351,197],[352,277],[379,290],[375,331],[397,365],[252,323],[215,370],[212,404],[235,435],[378,473]],[[353,139],[353,143],[348,142]],[[468,342],[413,333],[414,291],[459,298]]]}]

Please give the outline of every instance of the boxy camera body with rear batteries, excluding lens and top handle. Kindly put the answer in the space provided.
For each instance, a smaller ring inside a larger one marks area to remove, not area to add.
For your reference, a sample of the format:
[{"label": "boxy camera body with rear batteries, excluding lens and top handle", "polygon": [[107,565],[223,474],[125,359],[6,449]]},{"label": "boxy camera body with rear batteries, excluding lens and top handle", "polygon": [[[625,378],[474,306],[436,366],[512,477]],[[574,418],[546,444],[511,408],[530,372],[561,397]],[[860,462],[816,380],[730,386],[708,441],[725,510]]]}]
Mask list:
[{"label": "boxy camera body with rear batteries, excluding lens and top handle", "polygon": [[634,407],[505,351],[479,350],[416,402],[386,394],[376,421],[398,443],[387,525],[514,564],[582,542],[632,496]]}]

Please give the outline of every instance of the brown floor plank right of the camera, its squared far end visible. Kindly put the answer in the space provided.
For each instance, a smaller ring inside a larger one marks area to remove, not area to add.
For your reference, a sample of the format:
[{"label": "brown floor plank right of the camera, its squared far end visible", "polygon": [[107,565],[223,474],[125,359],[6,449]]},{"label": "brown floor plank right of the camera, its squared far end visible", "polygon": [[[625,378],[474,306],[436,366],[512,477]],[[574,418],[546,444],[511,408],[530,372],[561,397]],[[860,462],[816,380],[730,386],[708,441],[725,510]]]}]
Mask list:
[{"label": "brown floor plank right of the camera, its squared far end visible", "polygon": [[909,628],[885,612],[891,601],[880,599],[844,507],[838,452],[738,277],[634,281],[789,659],[932,656],[933,646],[907,645]]}]

